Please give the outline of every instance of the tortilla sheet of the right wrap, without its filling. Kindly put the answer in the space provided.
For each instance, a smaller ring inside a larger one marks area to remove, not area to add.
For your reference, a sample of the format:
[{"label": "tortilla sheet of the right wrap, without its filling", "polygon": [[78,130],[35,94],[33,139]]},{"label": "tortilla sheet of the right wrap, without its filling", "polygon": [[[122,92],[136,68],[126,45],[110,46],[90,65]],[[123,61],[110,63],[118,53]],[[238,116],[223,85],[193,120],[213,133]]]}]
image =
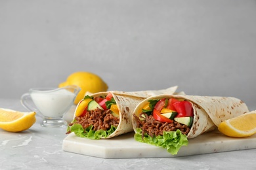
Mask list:
[{"label": "tortilla sheet of the right wrap, without its filling", "polygon": [[[247,105],[240,99],[234,97],[198,96],[198,95],[157,95],[149,97],[140,102],[134,110],[134,114],[139,116],[140,110],[150,99],[177,98],[185,99],[192,103],[194,110],[193,124],[187,135],[188,139],[215,129],[221,122],[249,112]],[[137,121],[133,116],[133,129],[136,132]]]}]

